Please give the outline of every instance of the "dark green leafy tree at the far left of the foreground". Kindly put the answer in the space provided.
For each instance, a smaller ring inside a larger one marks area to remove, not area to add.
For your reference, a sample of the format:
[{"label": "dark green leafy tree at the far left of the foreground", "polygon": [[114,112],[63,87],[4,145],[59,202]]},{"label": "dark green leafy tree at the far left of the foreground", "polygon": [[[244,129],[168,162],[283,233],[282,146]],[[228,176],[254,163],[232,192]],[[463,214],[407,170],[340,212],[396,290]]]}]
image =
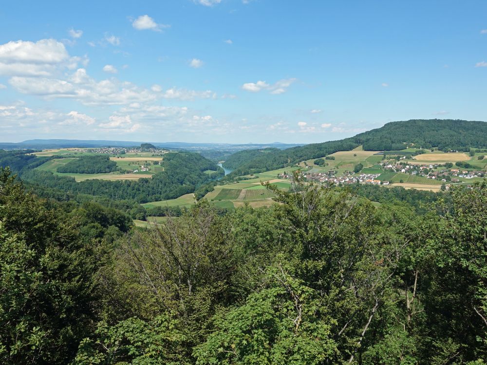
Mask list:
[{"label": "dark green leafy tree at the far left of the foreground", "polygon": [[93,247],[0,169],[0,359],[65,364],[94,320]]}]

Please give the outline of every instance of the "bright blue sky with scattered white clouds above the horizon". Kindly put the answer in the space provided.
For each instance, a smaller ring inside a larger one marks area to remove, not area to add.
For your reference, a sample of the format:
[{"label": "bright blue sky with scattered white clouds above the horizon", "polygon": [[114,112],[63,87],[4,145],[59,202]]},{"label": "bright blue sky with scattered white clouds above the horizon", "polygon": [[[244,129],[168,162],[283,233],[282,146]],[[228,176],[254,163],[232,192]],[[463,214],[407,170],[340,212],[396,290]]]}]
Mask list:
[{"label": "bright blue sky with scattered white clouds above the horizon", "polygon": [[314,143],[487,120],[486,1],[5,1],[0,141]]}]

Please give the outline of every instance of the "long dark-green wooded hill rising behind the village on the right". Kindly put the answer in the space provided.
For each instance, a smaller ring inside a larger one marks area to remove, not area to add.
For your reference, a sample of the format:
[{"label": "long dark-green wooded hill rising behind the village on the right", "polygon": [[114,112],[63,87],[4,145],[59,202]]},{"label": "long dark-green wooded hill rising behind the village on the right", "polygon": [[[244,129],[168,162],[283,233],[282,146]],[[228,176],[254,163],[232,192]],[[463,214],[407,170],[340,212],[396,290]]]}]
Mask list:
[{"label": "long dark-green wooded hill rising behind the village on the right", "polygon": [[[440,150],[487,147],[487,123],[465,120],[418,119],[387,123],[381,128],[338,141],[292,147],[257,156],[241,164],[225,180],[274,170],[362,145],[369,151],[400,150],[408,146]],[[250,155],[249,155],[250,156]],[[230,157],[231,158],[231,157]]]}]

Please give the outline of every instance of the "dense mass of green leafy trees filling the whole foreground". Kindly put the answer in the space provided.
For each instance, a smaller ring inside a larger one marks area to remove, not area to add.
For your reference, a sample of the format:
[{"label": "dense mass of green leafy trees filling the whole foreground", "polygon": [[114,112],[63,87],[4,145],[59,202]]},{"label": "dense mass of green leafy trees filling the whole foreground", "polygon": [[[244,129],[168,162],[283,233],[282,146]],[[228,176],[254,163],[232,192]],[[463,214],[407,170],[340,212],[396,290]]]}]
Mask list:
[{"label": "dense mass of green leafy trees filling the whole foreground", "polygon": [[0,359],[484,364],[487,183],[418,192],[413,208],[386,189],[375,207],[356,194],[369,187],[293,181],[268,186],[270,209],[220,215],[202,200],[133,229],[0,169]]}]

